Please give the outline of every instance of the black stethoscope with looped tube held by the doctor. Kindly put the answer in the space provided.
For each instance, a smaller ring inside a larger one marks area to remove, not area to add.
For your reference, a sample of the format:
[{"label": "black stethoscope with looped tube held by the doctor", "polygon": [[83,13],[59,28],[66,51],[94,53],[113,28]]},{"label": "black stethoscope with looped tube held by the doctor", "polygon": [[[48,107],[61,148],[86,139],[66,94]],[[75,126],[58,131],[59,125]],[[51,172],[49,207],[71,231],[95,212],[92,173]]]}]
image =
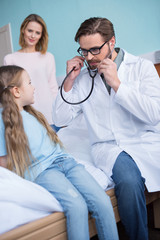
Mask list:
[{"label": "black stethoscope with looped tube held by the doctor", "polygon": [[[113,50],[114,50],[114,48],[110,51],[110,53],[109,53],[109,55],[107,56],[107,58],[111,57]],[[64,102],[66,102],[66,103],[68,103],[68,104],[71,104],[71,105],[81,104],[81,103],[85,102],[85,101],[91,96],[91,94],[92,94],[92,92],[93,92],[94,79],[95,79],[95,77],[96,77],[96,75],[97,75],[97,73],[98,73],[98,69],[91,70],[90,67],[89,67],[89,65],[88,65],[88,63],[86,62],[86,60],[84,60],[84,63],[85,63],[85,65],[86,65],[86,67],[87,67],[89,76],[90,76],[91,79],[92,79],[91,90],[90,90],[88,96],[87,96],[85,99],[83,99],[82,101],[80,101],[80,102],[75,102],[75,103],[73,103],[73,102],[67,101],[67,100],[64,98],[64,96],[63,96],[63,94],[62,94],[63,85],[64,85],[65,80],[68,78],[68,76],[74,71],[75,67],[73,67],[73,68],[71,69],[71,71],[66,75],[66,77],[64,78],[64,80],[63,80],[63,82],[62,82],[62,84],[61,84],[61,86],[60,86],[60,95],[61,95],[61,98],[63,99]],[[102,73],[101,75],[103,75],[103,73]]]}]

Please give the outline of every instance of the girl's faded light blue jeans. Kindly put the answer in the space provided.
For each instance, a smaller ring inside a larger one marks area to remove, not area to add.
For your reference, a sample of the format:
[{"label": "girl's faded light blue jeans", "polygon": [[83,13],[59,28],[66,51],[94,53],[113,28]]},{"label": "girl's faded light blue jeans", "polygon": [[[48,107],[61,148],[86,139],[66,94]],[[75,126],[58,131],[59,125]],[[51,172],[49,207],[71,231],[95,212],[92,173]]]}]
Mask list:
[{"label": "girl's faded light blue jeans", "polygon": [[57,159],[35,182],[61,203],[67,219],[69,240],[88,240],[88,211],[95,218],[100,240],[117,240],[117,226],[110,198],[72,158]]}]

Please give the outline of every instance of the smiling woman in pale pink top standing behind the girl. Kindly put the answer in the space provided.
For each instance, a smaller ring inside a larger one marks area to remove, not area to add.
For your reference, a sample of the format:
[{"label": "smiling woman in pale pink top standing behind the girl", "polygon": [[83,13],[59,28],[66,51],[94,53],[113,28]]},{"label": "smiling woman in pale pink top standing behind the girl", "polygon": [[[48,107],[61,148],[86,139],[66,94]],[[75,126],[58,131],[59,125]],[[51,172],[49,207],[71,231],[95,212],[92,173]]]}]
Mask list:
[{"label": "smiling woman in pale pink top standing behind the girl", "polygon": [[25,18],[20,28],[19,45],[19,51],[5,56],[4,65],[18,65],[29,73],[35,87],[33,106],[52,125],[52,103],[58,92],[56,67],[54,56],[47,52],[48,32],[40,16],[31,14]]}]

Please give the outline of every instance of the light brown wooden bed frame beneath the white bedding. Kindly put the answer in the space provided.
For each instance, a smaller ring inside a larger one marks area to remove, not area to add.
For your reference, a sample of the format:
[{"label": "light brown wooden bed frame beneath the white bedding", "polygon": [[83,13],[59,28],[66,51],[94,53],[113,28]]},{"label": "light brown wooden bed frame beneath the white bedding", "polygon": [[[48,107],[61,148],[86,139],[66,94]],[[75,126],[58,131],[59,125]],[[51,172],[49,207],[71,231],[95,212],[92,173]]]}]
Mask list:
[{"label": "light brown wooden bed frame beneath the white bedding", "polygon": [[[118,213],[117,200],[114,189],[106,192],[112,202],[116,222],[120,221]],[[160,228],[160,192],[148,193],[146,195],[146,204],[153,203],[154,226]],[[97,234],[94,220],[89,216],[90,237]],[[61,212],[55,212],[47,217],[30,222],[9,232],[0,235],[0,240],[67,240],[66,219]]]}]

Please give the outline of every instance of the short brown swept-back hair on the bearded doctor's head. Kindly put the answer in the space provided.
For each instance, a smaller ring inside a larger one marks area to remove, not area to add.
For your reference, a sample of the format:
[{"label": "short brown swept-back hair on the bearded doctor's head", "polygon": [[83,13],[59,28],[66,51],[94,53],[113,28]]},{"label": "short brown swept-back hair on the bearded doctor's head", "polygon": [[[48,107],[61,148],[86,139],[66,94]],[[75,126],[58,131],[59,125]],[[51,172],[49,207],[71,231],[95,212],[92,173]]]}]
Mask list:
[{"label": "short brown swept-back hair on the bearded doctor's head", "polygon": [[115,37],[113,24],[107,18],[93,17],[85,20],[80,25],[74,39],[79,42],[81,36],[95,33],[99,33],[104,38],[104,41],[109,41],[113,36]]}]

